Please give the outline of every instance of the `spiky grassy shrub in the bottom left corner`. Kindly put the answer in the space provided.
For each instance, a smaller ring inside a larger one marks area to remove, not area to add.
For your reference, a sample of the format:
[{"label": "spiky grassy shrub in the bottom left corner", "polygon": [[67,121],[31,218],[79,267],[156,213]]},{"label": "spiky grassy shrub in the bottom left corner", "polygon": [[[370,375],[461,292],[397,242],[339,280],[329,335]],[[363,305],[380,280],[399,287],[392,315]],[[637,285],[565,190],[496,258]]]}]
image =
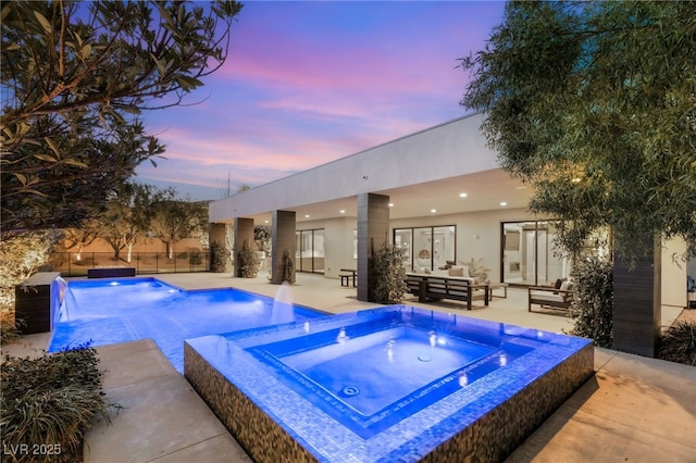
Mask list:
[{"label": "spiky grassy shrub in the bottom left corner", "polygon": [[109,420],[98,362],[86,346],[37,359],[5,355],[0,365],[3,456],[80,461],[85,430],[96,417]]}]

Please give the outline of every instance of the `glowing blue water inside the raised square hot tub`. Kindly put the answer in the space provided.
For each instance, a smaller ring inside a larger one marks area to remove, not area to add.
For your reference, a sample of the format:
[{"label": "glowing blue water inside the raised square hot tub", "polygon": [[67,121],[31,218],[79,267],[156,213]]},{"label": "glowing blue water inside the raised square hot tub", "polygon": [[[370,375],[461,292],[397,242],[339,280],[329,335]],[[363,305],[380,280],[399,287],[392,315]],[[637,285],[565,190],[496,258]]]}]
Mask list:
[{"label": "glowing blue water inside the raised square hot tub", "polygon": [[457,317],[432,311],[363,313],[375,315],[247,351],[364,438],[546,342],[532,330],[520,343],[499,325],[476,333],[461,317],[458,324]]}]

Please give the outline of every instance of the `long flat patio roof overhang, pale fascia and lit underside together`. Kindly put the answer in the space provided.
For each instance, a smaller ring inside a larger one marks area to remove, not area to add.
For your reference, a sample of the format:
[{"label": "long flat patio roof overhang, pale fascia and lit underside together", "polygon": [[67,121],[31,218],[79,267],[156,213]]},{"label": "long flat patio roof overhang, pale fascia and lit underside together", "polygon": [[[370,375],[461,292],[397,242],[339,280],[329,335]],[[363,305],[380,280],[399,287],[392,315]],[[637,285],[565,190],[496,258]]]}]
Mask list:
[{"label": "long flat patio roof overhang, pale fascia and lit underside together", "polygon": [[262,225],[276,210],[295,211],[298,223],[355,217],[358,195],[368,192],[389,197],[390,220],[490,211],[501,202],[526,208],[531,190],[498,166],[482,122],[481,114],[461,117],[213,201],[210,222]]}]

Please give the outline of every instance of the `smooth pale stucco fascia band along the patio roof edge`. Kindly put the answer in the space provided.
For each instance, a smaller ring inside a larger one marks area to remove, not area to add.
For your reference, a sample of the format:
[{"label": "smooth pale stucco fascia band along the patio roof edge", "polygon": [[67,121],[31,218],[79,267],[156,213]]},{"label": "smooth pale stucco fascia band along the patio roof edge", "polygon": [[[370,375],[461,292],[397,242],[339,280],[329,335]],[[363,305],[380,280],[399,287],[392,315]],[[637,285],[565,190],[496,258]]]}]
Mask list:
[{"label": "smooth pale stucco fascia band along the patio roof edge", "polygon": [[461,117],[212,201],[210,222],[498,168],[480,134],[482,121],[482,114]]}]

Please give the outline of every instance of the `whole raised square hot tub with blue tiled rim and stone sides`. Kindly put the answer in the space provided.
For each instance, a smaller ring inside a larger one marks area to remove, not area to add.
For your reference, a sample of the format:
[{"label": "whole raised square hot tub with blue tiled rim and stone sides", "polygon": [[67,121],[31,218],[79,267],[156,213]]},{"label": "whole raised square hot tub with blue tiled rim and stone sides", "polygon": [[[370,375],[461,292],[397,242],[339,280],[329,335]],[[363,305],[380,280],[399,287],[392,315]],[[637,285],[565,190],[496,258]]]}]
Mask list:
[{"label": "whole raised square hot tub with blue tiled rim and stone sides", "polygon": [[587,339],[403,305],[189,339],[256,461],[501,460],[593,375]]}]

